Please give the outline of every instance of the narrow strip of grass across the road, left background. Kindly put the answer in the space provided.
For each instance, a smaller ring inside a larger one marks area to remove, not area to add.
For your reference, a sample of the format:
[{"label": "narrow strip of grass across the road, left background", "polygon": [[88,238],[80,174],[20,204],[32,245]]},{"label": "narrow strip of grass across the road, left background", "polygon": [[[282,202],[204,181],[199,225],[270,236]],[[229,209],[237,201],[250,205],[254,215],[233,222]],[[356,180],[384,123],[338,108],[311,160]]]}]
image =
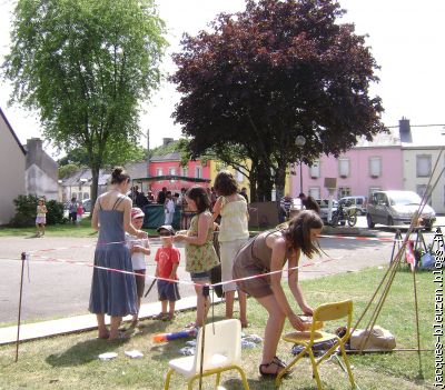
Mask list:
[{"label": "narrow strip of grass across the road, left background", "polygon": [[[144,229],[149,236],[158,236],[156,229]],[[30,237],[36,234],[34,227],[27,228],[0,228],[0,237],[16,236],[16,237]],[[65,224],[49,224],[46,227],[47,237],[96,237],[97,232],[91,228],[91,220],[89,218],[82,219],[79,226],[72,223]]]}]

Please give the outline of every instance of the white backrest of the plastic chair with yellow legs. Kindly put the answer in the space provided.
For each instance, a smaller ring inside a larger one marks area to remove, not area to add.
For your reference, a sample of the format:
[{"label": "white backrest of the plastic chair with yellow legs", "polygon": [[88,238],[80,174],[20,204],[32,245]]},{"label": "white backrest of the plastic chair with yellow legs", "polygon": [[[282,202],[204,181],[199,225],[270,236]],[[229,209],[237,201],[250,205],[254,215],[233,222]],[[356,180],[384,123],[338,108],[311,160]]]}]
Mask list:
[{"label": "white backrest of the plastic chair with yellow legs", "polygon": [[[222,320],[206,324],[204,344],[204,370],[240,364],[241,362],[241,323],[237,319]],[[202,328],[199,329],[194,371],[199,372],[202,346]],[[221,358],[224,357],[224,358]]]}]

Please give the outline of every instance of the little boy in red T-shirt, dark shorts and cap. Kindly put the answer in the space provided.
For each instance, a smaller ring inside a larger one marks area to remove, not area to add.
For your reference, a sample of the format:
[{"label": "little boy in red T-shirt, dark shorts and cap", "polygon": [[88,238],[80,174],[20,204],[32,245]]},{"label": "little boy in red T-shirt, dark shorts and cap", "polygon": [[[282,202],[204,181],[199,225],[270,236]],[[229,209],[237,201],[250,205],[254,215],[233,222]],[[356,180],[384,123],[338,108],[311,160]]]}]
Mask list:
[{"label": "little boy in red T-shirt, dark shorts and cap", "polygon": [[[175,230],[171,226],[164,224],[158,229],[162,247],[159,248],[155,256],[156,277],[170,280],[177,280],[176,271],[179,266],[179,250],[172,244],[172,236]],[[158,294],[161,303],[161,312],[154,319],[170,321],[175,318],[175,302],[180,299],[177,282],[158,279]],[[167,306],[169,310],[167,312]]]}]

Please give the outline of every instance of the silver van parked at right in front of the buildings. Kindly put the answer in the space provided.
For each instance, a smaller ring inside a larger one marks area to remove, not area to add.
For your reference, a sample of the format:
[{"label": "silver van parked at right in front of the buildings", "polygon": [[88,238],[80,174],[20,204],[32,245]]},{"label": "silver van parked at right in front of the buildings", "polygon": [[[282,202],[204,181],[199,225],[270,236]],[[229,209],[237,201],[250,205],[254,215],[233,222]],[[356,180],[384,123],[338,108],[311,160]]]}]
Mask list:
[{"label": "silver van parked at right in front of the buildings", "polygon": [[[374,228],[376,223],[409,224],[421,202],[421,197],[413,191],[376,191],[367,206],[368,228]],[[436,213],[432,207],[425,204],[421,218],[425,228],[431,230],[436,221]]]}]

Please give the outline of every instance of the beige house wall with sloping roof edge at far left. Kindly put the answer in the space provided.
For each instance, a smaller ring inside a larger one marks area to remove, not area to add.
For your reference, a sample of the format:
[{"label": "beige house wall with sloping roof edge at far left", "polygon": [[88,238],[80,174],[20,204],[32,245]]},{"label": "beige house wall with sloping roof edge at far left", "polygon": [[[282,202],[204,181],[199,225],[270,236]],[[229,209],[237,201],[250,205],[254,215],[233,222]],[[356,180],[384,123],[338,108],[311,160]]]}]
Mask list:
[{"label": "beige house wall with sloping roof edge at far left", "polygon": [[0,108],[0,224],[14,216],[13,199],[24,194],[26,150]]}]

